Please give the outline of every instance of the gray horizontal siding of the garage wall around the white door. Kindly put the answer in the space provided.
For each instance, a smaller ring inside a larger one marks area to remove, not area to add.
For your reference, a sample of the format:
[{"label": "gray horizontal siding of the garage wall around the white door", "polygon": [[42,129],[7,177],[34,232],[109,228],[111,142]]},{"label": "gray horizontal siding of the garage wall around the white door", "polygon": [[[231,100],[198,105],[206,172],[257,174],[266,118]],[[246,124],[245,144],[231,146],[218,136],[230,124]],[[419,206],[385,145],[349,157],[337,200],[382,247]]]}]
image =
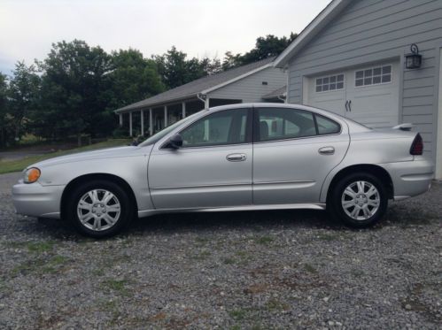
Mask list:
[{"label": "gray horizontal siding of the garage wall around the white door", "polygon": [[[423,55],[423,65],[417,70],[404,68],[411,43]],[[306,76],[399,60],[399,121],[416,125],[423,135],[425,153],[434,157],[441,47],[442,1],[354,0],[291,58],[288,101],[303,103]]]}]

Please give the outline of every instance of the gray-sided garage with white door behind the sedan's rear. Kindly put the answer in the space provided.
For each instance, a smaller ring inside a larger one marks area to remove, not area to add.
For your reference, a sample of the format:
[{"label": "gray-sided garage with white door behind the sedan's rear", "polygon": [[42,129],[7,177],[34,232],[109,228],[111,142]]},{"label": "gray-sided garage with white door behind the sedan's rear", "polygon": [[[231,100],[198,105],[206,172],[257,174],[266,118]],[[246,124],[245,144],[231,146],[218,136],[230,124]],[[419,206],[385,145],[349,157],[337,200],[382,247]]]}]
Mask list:
[{"label": "gray-sided garage with white door behind the sedan's rear", "polygon": [[442,1],[332,0],[275,66],[287,103],[368,127],[413,124],[442,179]]}]

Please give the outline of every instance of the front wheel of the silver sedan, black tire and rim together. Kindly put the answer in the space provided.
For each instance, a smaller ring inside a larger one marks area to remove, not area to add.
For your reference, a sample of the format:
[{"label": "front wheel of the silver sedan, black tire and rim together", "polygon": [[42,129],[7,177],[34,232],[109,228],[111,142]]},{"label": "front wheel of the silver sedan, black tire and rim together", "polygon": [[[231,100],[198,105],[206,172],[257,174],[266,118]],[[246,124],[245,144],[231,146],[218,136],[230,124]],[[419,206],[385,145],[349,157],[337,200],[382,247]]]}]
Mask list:
[{"label": "front wheel of the silver sedan, black tire and rim together", "polygon": [[66,218],[81,234],[94,238],[119,233],[133,216],[128,193],[106,180],[92,180],[74,188],[66,205]]}]

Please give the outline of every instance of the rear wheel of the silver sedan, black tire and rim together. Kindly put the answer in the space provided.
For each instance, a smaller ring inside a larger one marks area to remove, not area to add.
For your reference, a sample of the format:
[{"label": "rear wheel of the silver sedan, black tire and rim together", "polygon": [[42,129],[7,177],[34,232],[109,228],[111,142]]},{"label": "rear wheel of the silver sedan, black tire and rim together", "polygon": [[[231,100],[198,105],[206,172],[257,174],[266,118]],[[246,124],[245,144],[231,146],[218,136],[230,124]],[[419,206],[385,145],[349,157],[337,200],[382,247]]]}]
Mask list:
[{"label": "rear wheel of the silver sedan, black tire and rim together", "polygon": [[371,173],[353,173],[339,180],[330,192],[327,210],[345,226],[374,226],[387,211],[384,184]]}]

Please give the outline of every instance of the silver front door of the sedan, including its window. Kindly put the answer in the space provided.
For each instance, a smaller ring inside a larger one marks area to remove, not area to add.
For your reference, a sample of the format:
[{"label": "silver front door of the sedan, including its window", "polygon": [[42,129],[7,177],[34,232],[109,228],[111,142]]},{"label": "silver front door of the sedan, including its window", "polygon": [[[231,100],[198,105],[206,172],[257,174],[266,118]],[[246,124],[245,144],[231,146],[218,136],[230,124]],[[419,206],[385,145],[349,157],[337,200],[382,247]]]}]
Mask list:
[{"label": "silver front door of the sedan, including its window", "polygon": [[181,148],[152,150],[148,177],[155,208],[252,204],[252,110],[207,113],[179,132]]}]

